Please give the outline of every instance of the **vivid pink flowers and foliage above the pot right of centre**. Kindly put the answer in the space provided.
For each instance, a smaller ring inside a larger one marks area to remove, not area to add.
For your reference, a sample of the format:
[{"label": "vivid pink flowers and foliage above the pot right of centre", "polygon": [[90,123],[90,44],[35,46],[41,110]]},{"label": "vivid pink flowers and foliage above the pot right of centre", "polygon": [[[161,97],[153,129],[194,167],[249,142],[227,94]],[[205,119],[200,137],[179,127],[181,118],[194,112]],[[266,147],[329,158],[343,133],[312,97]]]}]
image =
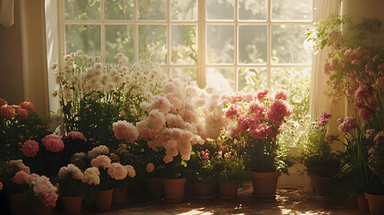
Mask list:
[{"label": "vivid pink flowers and foliage above the pot right of centre", "polygon": [[277,91],[273,98],[269,90],[224,96],[226,136],[235,139],[246,168],[258,172],[274,172],[286,167],[279,160],[277,134],[285,117],[292,111],[286,102],[286,93]]}]

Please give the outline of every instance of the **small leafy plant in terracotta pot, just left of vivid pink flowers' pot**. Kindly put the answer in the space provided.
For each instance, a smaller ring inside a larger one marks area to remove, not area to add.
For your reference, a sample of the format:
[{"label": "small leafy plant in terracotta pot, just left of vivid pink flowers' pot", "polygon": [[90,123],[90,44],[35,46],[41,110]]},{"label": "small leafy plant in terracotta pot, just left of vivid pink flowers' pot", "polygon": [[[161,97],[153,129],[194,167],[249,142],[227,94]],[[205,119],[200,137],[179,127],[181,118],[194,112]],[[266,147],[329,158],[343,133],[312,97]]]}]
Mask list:
[{"label": "small leafy plant in terracotta pot, just left of vivid pink flowers' pot", "polygon": [[221,146],[218,153],[214,155],[218,159],[218,181],[220,199],[237,198],[239,185],[247,179],[248,171],[245,171],[243,159],[238,156],[236,150],[231,146]]}]

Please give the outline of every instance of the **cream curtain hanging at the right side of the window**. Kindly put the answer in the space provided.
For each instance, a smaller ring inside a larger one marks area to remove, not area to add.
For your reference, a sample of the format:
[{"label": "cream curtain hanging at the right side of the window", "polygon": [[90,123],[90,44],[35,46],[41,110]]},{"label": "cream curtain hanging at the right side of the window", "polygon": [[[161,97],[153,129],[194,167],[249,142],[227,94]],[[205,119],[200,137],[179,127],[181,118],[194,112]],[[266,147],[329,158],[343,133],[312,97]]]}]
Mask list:
[{"label": "cream curtain hanging at the right side of the window", "polygon": [[[320,22],[331,14],[340,14],[341,0],[314,0],[313,21]],[[324,111],[331,111],[330,99],[324,94],[328,77],[323,73],[329,48],[320,50],[312,57],[310,113],[316,118]]]}]

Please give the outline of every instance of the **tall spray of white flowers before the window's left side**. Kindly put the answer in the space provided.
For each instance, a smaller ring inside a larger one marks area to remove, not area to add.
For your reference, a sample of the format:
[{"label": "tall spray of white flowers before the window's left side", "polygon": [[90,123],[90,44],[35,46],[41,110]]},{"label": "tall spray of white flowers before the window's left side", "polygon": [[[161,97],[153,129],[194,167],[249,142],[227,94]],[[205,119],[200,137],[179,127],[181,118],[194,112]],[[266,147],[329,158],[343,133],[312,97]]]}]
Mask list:
[{"label": "tall spray of white flowers before the window's left side", "polygon": [[128,65],[123,54],[115,56],[115,64],[106,64],[79,50],[64,56],[62,69],[57,64],[52,69],[59,85],[54,96],[59,97],[66,131],[80,131],[98,141],[113,137],[113,122],[138,121],[143,114],[141,101],[151,98],[166,81],[157,64]]}]

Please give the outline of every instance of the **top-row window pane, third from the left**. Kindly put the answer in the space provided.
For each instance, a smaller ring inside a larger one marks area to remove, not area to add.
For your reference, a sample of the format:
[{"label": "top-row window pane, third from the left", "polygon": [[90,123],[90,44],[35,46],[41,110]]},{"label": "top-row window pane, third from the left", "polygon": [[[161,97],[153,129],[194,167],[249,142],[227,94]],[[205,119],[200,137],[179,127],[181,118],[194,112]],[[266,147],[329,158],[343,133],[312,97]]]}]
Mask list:
[{"label": "top-row window pane, third from the left", "polygon": [[140,0],[139,19],[149,21],[166,21],[166,0]]}]

